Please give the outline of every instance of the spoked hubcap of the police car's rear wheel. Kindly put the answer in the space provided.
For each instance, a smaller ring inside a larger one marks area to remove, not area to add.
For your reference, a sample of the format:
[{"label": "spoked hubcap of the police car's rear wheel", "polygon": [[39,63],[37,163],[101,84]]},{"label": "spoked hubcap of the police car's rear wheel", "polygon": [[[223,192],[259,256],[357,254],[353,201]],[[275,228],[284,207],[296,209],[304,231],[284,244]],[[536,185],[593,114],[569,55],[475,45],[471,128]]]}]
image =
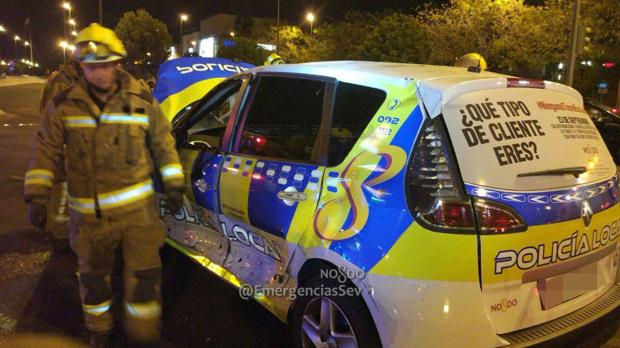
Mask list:
[{"label": "spoked hubcap of the police car's rear wheel", "polygon": [[308,302],[301,331],[304,347],[357,348],[357,339],[349,319],[328,298],[317,297]]}]

